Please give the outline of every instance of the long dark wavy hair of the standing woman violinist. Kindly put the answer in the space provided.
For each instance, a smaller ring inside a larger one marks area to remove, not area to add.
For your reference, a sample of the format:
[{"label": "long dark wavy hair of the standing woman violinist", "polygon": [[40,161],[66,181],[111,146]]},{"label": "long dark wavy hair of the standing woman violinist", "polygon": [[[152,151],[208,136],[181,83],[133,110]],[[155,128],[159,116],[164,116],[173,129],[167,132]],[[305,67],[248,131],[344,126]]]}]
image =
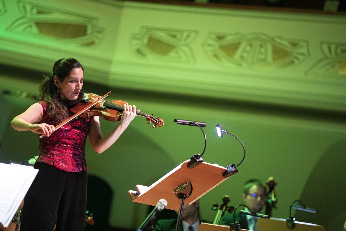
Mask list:
[{"label": "long dark wavy hair of the standing woman violinist", "polygon": [[56,122],[64,121],[69,118],[70,114],[69,109],[58,97],[58,88],[54,84],[54,77],[58,77],[63,82],[74,68],[81,68],[84,72],[83,66],[73,58],[63,58],[56,61],[52,73],[44,75],[45,78],[38,88],[39,99],[48,103],[47,115]]}]

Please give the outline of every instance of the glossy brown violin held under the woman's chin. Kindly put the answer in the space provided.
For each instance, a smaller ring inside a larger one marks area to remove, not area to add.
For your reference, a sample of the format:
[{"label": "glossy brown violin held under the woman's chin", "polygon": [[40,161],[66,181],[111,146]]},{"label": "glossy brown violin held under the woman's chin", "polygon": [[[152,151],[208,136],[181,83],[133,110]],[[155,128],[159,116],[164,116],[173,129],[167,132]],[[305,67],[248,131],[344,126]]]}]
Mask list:
[{"label": "glossy brown violin held under the woman's chin", "polygon": [[[99,100],[101,96],[98,96],[93,93],[85,93],[83,98],[72,108],[70,108],[71,112],[77,113],[80,110],[83,110],[88,105],[93,104],[95,101]],[[119,121],[121,119],[122,112],[124,112],[124,105],[126,103],[122,100],[100,100],[97,104],[92,106],[91,108],[85,110],[83,113],[79,114],[79,118],[89,118],[90,116],[102,116],[103,119],[108,121]],[[162,127],[164,125],[163,119],[160,117],[154,118],[153,114],[148,115],[143,112],[136,112],[136,115],[143,116],[148,121],[147,124],[153,123],[153,128]]]}]

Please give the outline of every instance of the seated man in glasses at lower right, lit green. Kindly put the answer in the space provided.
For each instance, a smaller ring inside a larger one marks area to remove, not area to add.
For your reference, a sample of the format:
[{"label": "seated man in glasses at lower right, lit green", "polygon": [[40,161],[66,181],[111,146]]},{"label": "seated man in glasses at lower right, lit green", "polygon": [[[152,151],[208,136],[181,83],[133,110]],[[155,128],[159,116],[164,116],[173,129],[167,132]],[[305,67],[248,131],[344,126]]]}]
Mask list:
[{"label": "seated man in glasses at lower right, lit green", "polygon": [[[266,187],[258,179],[248,180],[245,182],[242,197],[245,205],[251,211],[260,213],[267,201]],[[247,210],[247,208],[243,210]],[[257,218],[255,216],[241,214],[240,210],[237,210],[235,214],[235,221],[239,222],[241,229],[257,230]],[[220,221],[222,225],[229,225],[230,223],[234,223],[233,213],[224,215]]]}]

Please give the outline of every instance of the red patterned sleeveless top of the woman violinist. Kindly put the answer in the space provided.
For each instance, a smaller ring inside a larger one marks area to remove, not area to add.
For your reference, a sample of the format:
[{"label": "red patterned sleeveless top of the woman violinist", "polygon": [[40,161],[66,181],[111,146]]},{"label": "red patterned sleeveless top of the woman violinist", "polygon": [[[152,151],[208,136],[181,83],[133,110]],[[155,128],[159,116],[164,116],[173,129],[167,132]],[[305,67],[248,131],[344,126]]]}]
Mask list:
[{"label": "red patterned sleeveless top of the woman violinist", "polygon": [[[39,123],[58,125],[59,123],[47,116],[47,103],[45,101],[38,103],[43,108],[43,117]],[[36,161],[53,165],[67,172],[88,170],[84,151],[89,121],[90,118],[73,119],[49,137],[39,139],[40,156]]]}]

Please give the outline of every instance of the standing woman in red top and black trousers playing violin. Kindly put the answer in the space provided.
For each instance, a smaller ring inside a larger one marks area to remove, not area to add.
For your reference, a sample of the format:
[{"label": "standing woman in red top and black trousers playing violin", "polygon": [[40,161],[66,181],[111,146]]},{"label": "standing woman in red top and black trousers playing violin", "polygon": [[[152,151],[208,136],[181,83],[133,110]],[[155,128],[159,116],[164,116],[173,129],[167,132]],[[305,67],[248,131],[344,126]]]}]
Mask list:
[{"label": "standing woman in red top and black trousers playing violin", "polygon": [[[118,126],[103,137],[98,116],[75,118],[54,131],[71,116],[69,106],[83,96],[83,67],[73,58],[55,62],[51,75],[39,87],[40,99],[13,118],[18,131],[43,135],[40,156],[34,167],[38,174],[24,199],[21,231],[84,230],[87,166],[85,142],[97,153],[108,149],[136,116],[136,106],[124,105]],[[139,110],[138,110],[139,111]],[[35,123],[36,122],[36,123]]]}]

